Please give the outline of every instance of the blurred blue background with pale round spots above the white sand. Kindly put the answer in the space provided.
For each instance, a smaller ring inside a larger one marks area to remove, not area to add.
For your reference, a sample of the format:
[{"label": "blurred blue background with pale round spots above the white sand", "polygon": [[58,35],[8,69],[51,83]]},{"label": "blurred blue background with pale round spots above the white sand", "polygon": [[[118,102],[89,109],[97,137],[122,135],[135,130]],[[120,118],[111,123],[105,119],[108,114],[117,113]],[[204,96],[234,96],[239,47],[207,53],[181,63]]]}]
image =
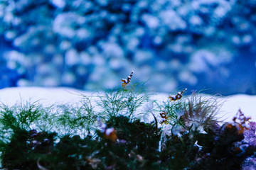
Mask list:
[{"label": "blurred blue background with pale round spots above the white sand", "polygon": [[256,94],[255,0],[0,0],[0,89]]}]

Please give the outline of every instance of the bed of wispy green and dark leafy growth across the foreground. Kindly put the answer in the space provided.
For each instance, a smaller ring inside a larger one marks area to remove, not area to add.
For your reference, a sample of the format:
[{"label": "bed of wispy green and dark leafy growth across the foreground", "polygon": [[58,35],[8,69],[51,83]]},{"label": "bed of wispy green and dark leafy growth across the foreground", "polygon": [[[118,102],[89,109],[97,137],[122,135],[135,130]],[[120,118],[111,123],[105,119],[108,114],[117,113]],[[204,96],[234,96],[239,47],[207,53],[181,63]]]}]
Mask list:
[{"label": "bed of wispy green and dark leafy growth across the foreground", "polygon": [[[129,87],[99,94],[95,105],[86,96],[73,106],[2,105],[1,168],[241,169],[246,158],[255,158],[255,145],[244,137],[255,135],[256,123],[220,126],[215,98],[193,93],[158,103]],[[152,106],[144,111],[147,103]],[[153,122],[142,122],[140,114]]]}]

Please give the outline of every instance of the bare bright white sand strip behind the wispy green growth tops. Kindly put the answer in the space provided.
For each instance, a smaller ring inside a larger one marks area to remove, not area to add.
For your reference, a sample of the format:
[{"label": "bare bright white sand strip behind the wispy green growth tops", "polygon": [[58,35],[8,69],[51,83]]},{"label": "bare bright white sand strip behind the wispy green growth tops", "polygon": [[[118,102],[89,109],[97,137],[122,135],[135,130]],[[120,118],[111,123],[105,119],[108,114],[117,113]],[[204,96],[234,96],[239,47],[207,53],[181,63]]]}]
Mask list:
[{"label": "bare bright white sand strip behind the wispy green growth tops", "polygon": [[[41,88],[41,87],[12,87],[0,90],[0,102],[7,106],[13,106],[20,101],[39,101],[43,105],[51,106],[53,103],[79,103],[84,96],[96,96],[89,91],[80,91],[71,88]],[[153,98],[161,101],[166,100],[168,94],[157,94]],[[245,116],[256,120],[256,96],[238,94],[220,98],[223,103],[220,108],[220,116],[227,121],[232,120],[240,108]]]}]

